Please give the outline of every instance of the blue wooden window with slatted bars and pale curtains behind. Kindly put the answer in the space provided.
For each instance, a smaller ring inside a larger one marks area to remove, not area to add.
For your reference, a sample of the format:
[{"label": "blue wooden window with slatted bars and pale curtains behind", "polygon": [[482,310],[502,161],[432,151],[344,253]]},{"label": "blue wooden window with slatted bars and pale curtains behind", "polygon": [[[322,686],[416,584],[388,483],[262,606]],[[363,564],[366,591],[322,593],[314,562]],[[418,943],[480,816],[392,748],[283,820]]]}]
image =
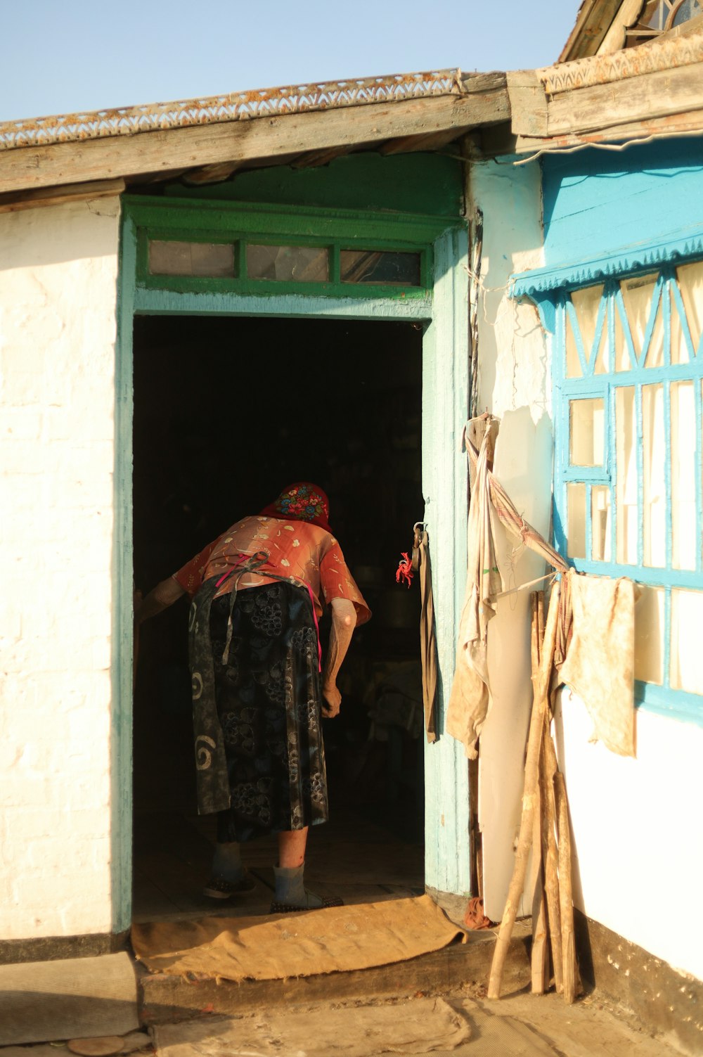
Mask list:
[{"label": "blue wooden window with slatted bars and pale curtains behind", "polygon": [[555,542],[642,585],[636,701],[700,723],[703,258],[594,278],[536,297],[554,331]]}]

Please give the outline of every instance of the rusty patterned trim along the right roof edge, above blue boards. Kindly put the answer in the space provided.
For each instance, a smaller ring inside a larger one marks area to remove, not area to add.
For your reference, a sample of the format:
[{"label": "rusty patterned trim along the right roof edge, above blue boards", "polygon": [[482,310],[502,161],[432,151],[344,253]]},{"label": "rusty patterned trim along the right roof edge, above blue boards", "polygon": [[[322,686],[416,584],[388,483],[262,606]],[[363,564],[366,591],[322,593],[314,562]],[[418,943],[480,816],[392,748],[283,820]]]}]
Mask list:
[{"label": "rusty patterned trim along the right roof edge, above blue boards", "polygon": [[613,55],[593,55],[571,62],[559,62],[537,70],[548,95],[609,85],[628,77],[640,77],[662,70],[703,62],[703,35],[658,40],[641,48],[628,48]]}]

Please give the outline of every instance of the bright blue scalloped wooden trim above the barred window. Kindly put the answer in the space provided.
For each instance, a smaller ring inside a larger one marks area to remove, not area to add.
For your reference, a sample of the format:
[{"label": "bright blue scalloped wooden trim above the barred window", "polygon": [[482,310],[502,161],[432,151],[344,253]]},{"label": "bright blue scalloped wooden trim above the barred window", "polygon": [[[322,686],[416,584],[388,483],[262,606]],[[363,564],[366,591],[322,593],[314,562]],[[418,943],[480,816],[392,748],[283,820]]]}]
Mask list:
[{"label": "bright blue scalloped wooden trim above the barred window", "polygon": [[604,279],[660,267],[669,261],[700,257],[703,254],[703,227],[682,231],[665,242],[629,246],[621,253],[594,257],[588,261],[534,268],[511,276],[511,296],[544,299],[565,286],[591,286]]}]

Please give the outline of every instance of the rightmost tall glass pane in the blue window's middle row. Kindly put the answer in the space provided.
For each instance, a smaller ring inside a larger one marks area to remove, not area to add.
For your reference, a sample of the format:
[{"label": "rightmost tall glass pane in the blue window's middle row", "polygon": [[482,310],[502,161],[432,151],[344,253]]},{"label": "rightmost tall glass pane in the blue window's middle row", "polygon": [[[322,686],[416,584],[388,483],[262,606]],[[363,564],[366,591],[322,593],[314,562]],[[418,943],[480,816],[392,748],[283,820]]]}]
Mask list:
[{"label": "rightmost tall glass pane in the blue window's middle row", "polygon": [[671,545],[674,569],[696,569],[696,404],[692,382],[671,383]]}]

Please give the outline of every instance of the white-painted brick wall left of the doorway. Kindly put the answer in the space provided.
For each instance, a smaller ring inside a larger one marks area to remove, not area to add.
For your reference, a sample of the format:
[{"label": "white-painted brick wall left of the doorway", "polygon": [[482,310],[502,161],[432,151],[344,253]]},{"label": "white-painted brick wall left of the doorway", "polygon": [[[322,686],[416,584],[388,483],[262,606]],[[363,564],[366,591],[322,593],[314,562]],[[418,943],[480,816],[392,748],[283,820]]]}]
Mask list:
[{"label": "white-painted brick wall left of the doorway", "polygon": [[0,937],[111,929],[119,200],[0,215]]}]

